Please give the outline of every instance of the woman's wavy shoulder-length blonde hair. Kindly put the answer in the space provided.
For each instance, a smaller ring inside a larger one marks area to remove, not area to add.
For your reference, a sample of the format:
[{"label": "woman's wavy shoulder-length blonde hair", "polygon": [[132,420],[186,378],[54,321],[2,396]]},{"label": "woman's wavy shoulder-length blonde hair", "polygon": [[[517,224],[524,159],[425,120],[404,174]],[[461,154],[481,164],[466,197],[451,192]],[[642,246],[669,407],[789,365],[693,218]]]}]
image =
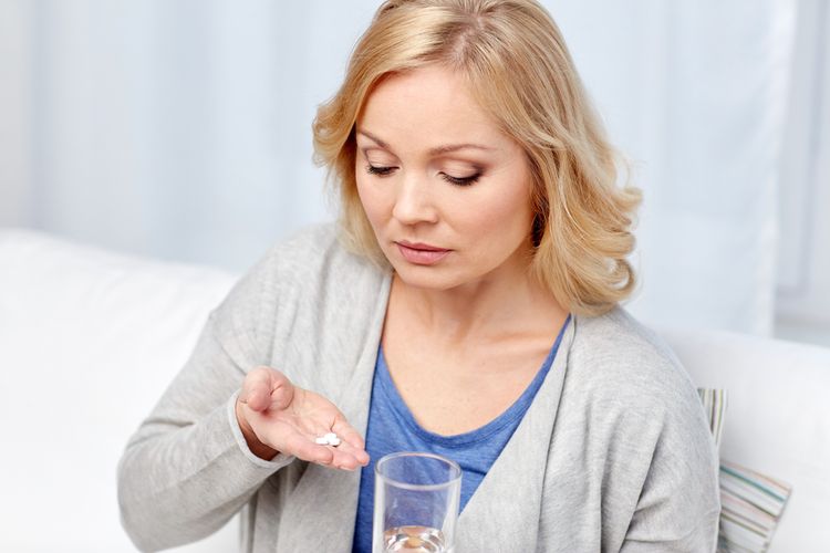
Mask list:
[{"label": "woman's wavy shoulder-length blonde hair", "polygon": [[640,191],[618,187],[621,160],[550,14],[533,0],[388,0],[352,53],[340,91],[314,119],[315,160],[342,201],[346,247],[385,263],[357,196],[354,127],[385,75],[442,63],[525,150],[533,175],[532,273],[566,309],[601,314],[630,295],[626,257]]}]

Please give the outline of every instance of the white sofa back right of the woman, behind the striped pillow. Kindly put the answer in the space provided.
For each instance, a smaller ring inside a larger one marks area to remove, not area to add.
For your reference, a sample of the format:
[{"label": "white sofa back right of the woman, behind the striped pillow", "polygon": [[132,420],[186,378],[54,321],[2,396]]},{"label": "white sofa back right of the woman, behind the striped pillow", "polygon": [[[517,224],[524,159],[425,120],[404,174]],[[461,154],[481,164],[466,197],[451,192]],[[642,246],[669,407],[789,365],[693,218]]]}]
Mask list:
[{"label": "white sofa back right of the woman, behind the striped pillow", "polygon": [[663,328],[696,386],[729,392],[720,458],[792,487],[770,553],[830,543],[830,349]]}]

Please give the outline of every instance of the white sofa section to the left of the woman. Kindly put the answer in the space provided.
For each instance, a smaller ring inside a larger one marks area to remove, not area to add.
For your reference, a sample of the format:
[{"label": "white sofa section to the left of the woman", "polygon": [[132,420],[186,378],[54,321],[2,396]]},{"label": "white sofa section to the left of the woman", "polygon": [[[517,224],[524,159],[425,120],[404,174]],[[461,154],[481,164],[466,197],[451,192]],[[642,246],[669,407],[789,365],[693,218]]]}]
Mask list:
[{"label": "white sofa section to the left of the woman", "polygon": [[[135,551],[118,458],[232,280],[0,230],[0,550]],[[180,551],[234,551],[235,534]]]}]

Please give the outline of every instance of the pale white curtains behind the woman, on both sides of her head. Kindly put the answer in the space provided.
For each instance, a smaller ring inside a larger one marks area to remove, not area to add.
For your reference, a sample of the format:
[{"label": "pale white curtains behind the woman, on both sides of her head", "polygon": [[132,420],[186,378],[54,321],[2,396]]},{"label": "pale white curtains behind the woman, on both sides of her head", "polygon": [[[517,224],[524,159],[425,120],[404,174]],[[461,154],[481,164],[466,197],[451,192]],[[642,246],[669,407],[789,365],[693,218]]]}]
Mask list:
[{"label": "pale white curtains behind the woman, on both sides of her head", "polygon": [[[768,334],[793,0],[544,3],[645,191],[632,310]],[[0,223],[242,270],[332,217],[310,124],[377,4],[7,2]]]}]

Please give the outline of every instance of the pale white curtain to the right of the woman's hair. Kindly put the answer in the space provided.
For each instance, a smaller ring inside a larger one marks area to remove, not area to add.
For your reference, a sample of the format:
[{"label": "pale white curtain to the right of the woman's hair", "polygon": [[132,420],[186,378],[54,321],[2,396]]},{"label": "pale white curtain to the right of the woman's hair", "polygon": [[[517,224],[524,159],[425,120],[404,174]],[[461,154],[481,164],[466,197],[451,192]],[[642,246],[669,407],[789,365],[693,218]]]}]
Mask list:
[{"label": "pale white curtain to the right of the woman's hair", "polygon": [[645,192],[631,305],[769,334],[795,2],[550,2]]}]

